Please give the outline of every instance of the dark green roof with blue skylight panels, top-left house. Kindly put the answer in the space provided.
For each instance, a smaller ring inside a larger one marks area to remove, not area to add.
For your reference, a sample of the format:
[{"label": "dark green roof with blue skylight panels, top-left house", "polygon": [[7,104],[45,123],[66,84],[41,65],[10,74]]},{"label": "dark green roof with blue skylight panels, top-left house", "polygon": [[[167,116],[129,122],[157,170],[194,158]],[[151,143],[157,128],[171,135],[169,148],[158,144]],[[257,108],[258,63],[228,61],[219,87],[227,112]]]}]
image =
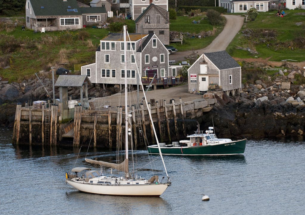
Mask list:
[{"label": "dark green roof with blue skylight panels, top-left house", "polygon": [[[76,0],[30,0],[35,16],[75,16],[81,15]],[[71,8],[68,8],[70,6]],[[44,7],[44,9],[41,9]],[[76,9],[77,12],[68,12],[67,9]]]}]

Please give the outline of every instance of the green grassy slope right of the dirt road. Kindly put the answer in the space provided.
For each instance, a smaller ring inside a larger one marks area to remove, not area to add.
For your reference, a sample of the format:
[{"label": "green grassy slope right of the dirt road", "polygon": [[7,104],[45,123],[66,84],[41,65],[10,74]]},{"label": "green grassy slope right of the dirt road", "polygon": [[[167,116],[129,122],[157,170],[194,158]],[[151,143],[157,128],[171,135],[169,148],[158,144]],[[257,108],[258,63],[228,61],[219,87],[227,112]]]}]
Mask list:
[{"label": "green grassy slope right of the dirt road", "polygon": [[[305,11],[285,12],[285,17],[275,16],[275,11],[259,12],[257,18],[247,22],[235,36],[227,48],[229,54],[238,58],[257,56],[269,61],[305,61],[305,16],[297,14]],[[258,53],[251,54],[245,48]]]}]

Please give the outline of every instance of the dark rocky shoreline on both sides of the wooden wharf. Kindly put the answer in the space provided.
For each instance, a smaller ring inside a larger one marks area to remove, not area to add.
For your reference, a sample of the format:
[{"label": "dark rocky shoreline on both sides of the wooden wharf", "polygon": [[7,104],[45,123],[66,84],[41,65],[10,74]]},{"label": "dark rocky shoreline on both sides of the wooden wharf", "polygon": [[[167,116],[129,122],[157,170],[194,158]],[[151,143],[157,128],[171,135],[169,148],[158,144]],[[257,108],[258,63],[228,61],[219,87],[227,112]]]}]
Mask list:
[{"label": "dark rocky shoreline on both sides of the wooden wharf", "polygon": [[[287,74],[288,75],[284,75]],[[210,92],[204,97],[216,97],[217,104],[210,112],[198,118],[202,128],[215,127],[219,137],[224,138],[272,138],[305,136],[305,91],[303,85],[294,85],[295,75],[304,76],[304,72],[280,70],[274,82],[256,80],[255,84],[243,87],[242,92],[234,96],[225,93]],[[52,95],[52,80],[42,80]],[[44,87],[38,80],[24,80],[22,83],[0,81],[0,124],[12,126],[16,103],[29,100],[46,100]],[[109,96],[119,88],[95,84],[88,89],[89,97]],[[79,89],[70,87],[69,95],[79,96]],[[56,90],[57,91],[57,90]],[[56,95],[58,97],[58,95]],[[13,102],[13,104],[5,104]],[[213,122],[212,122],[213,121]],[[192,123],[193,124],[193,123]]]}]

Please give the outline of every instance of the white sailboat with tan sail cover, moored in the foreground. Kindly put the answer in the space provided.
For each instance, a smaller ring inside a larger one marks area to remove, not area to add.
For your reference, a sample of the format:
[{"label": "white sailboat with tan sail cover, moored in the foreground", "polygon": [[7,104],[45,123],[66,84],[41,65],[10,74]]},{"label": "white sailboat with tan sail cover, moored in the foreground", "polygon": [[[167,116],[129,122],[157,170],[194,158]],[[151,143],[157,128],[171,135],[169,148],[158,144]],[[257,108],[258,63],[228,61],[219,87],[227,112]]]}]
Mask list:
[{"label": "white sailboat with tan sail cover, moored in the foreground", "polygon": [[[124,26],[124,47],[127,47],[126,42],[126,26]],[[124,49],[124,55],[126,59],[126,48]],[[127,71],[127,61],[125,60],[125,71]],[[142,86],[142,84],[141,84]],[[144,91],[144,87],[142,86]],[[146,95],[144,93],[145,102],[147,104]],[[149,117],[152,123],[152,116],[150,109]],[[159,141],[156,135],[155,127],[152,123],[152,128],[154,135],[156,137],[157,145],[159,146],[160,157],[163,162],[163,166],[167,175],[167,182],[162,183],[159,181],[157,175],[152,176],[149,180],[135,176],[129,172],[128,169],[128,118],[131,114],[128,114],[127,108],[127,74],[125,74],[125,160],[120,164],[109,163],[105,161],[97,161],[92,159],[85,159],[86,162],[92,164],[99,164],[101,167],[110,167],[116,169],[117,171],[123,172],[124,176],[116,177],[113,175],[106,176],[101,170],[90,170],[87,167],[75,167],[72,169],[71,173],[66,173],[66,182],[78,189],[81,192],[102,194],[102,195],[115,195],[115,196],[160,196],[168,186],[171,185],[170,177],[167,174],[167,170],[164,164],[162,153],[160,150]],[[82,173],[83,172],[83,173]],[[164,178],[164,177],[163,177]]]}]

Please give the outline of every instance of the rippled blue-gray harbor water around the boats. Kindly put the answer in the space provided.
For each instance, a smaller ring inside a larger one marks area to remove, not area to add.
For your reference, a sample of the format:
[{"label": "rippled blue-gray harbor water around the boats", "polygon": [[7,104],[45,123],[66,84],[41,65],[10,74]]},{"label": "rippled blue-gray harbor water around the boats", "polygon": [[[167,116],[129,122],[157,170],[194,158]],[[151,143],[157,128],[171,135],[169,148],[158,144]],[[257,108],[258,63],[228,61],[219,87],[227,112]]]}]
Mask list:
[{"label": "rippled blue-gray harbor water around the boats", "polygon": [[[86,154],[87,158],[111,161],[116,152],[13,146],[11,139],[12,129],[0,127],[2,214],[304,214],[305,211],[303,140],[247,140],[245,154],[239,156],[164,156],[172,186],[160,197],[123,197],[81,193],[65,182],[65,172],[75,165],[89,167],[84,162]],[[138,174],[150,178],[152,173],[148,169],[154,169],[161,177],[166,176],[159,162],[145,166],[149,163],[147,151],[135,153],[143,165]],[[209,196],[210,201],[202,201],[203,195]]]}]

